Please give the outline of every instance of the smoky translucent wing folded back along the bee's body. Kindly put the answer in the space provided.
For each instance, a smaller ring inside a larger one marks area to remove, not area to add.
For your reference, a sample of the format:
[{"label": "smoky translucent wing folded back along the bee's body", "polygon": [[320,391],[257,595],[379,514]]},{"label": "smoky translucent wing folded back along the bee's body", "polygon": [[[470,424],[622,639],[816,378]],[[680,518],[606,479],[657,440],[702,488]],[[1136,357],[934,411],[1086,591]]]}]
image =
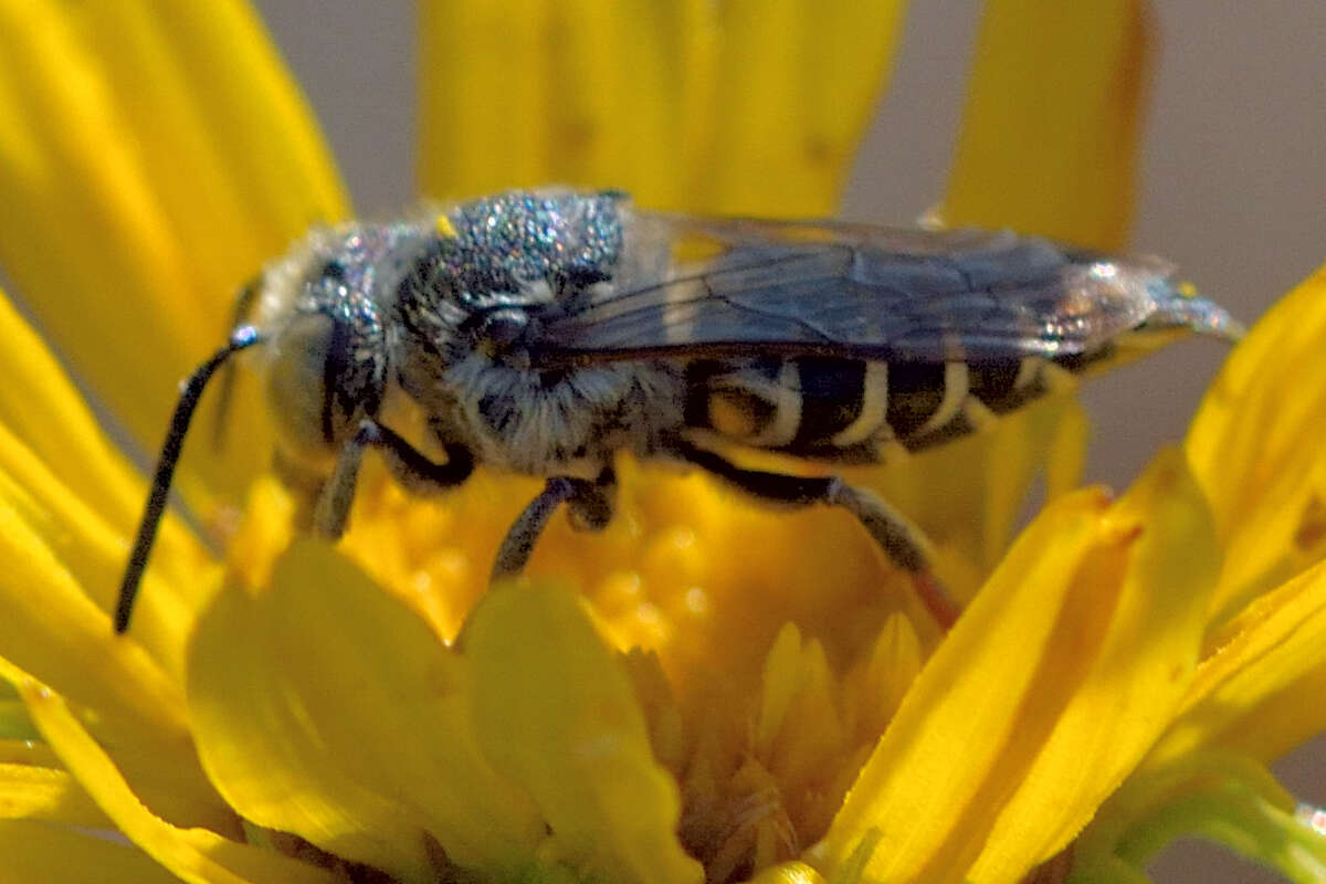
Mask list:
[{"label": "smoky translucent wing folded back along the bee's body", "polygon": [[1175,296],[1168,265],[1010,232],[634,211],[613,280],[544,322],[536,359],[1090,353]]}]

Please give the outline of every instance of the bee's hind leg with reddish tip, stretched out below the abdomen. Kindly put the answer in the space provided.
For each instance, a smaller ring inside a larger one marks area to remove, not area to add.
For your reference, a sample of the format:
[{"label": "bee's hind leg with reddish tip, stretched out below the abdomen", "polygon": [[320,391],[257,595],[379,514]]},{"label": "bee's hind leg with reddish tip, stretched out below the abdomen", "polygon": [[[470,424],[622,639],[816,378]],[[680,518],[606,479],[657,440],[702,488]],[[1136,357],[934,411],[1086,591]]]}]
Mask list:
[{"label": "bee's hind leg with reddish tip, stretched out below the abdomen", "polygon": [[769,504],[842,506],[866,526],[894,565],[912,575],[918,595],[941,627],[947,630],[957,620],[957,604],[931,573],[928,545],[920,529],[871,492],[849,485],[838,476],[786,476],[745,469],[684,440],[674,441],[670,448],[678,457]]}]

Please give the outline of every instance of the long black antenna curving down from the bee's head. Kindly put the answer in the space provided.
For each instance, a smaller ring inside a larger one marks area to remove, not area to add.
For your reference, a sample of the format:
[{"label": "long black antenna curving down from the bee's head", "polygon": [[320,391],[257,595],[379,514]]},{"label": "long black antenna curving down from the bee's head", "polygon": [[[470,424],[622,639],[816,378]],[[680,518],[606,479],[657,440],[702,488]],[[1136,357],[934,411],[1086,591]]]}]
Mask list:
[{"label": "long black antenna curving down from the bee's head", "polygon": [[261,341],[263,338],[251,325],[235,329],[231,333],[229,343],[195,368],[180,390],[179,402],[175,403],[175,414],[170,419],[170,429],[166,432],[166,441],[162,444],[160,457],[156,460],[152,492],[147,497],[147,506],[143,508],[143,518],[138,522],[138,535],[134,538],[134,550],[129,554],[129,565],[125,566],[125,579],[119,583],[119,600],[115,602],[115,632],[118,634],[123,634],[129,628],[129,615],[134,612],[138,583],[143,579],[143,569],[147,567],[152,541],[156,539],[156,527],[166,513],[166,500],[170,496],[171,478],[175,476],[175,464],[179,463],[179,452],[184,447],[184,433],[194,417],[194,410],[198,408],[198,400],[203,396],[203,387],[231,357]]}]

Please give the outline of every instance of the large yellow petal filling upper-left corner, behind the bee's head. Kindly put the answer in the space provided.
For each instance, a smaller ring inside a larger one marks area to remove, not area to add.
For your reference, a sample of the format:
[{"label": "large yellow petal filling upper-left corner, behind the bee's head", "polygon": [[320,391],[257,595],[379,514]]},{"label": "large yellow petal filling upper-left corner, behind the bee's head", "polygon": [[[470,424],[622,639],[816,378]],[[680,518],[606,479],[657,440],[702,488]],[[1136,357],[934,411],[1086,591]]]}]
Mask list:
[{"label": "large yellow petal filling upper-left corner, behind the bee's head", "polygon": [[233,292],[308,224],[339,217],[341,187],[237,0],[4,0],[0,32],[0,258],[155,448]]}]

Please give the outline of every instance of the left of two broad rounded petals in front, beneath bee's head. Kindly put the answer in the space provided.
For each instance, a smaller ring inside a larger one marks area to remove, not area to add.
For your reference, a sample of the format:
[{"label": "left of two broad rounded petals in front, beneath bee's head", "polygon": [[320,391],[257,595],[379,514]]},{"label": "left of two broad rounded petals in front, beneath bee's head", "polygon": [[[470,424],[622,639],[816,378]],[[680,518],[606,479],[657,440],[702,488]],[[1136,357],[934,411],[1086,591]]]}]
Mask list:
[{"label": "left of two broad rounded petals in front, beneath bee's head", "polygon": [[225,799],[267,828],[407,881],[528,863],[541,826],[479,754],[464,661],[326,545],[298,541],[272,584],[200,616],[188,709]]}]

